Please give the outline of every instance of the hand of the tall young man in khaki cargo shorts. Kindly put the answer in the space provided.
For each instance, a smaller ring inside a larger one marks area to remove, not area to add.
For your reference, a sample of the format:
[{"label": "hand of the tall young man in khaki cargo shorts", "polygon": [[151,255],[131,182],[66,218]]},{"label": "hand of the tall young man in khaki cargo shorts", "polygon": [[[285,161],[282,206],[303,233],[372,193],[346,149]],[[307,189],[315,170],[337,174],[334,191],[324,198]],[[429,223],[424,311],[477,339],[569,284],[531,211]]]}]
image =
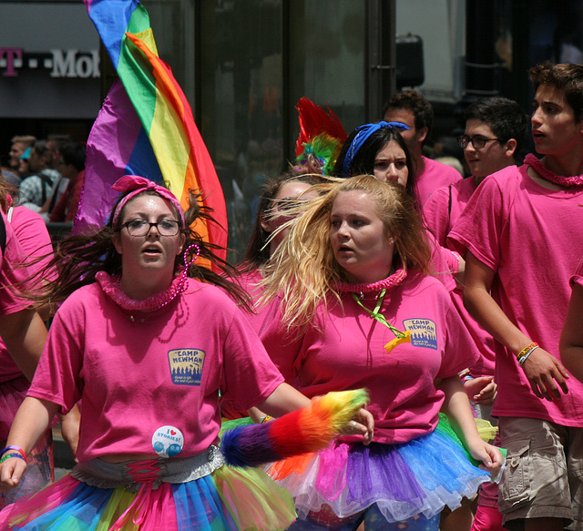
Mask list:
[{"label": "hand of the tall young man in khaki cargo shorts", "polygon": [[533,393],[538,398],[545,398],[549,402],[560,398],[561,393],[558,391],[557,384],[563,393],[568,393],[565,382],[568,379],[567,369],[555,356],[542,348],[538,347],[530,353],[522,369],[527,375]]}]

